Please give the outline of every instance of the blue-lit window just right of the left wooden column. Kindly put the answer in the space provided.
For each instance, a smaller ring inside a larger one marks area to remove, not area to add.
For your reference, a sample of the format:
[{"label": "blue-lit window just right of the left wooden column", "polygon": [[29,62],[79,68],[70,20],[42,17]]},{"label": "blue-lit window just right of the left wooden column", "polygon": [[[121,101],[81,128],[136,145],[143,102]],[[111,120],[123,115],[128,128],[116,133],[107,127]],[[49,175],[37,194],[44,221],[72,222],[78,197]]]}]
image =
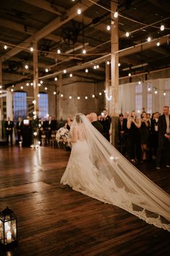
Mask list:
[{"label": "blue-lit window just right of the left wooden column", "polygon": [[39,117],[47,117],[48,115],[48,94],[40,93],[38,98]]}]

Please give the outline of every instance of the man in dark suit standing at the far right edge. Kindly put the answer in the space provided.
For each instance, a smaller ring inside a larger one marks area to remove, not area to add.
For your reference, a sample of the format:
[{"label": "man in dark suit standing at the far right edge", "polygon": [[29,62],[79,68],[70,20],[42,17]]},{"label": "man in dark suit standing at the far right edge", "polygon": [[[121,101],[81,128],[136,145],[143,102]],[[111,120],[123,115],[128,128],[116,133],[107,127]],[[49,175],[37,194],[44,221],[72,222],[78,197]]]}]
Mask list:
[{"label": "man in dark suit standing at the far right edge", "polygon": [[158,118],[158,151],[156,155],[156,169],[161,169],[161,158],[165,152],[166,167],[170,167],[170,115],[169,107],[163,107],[163,115]]}]

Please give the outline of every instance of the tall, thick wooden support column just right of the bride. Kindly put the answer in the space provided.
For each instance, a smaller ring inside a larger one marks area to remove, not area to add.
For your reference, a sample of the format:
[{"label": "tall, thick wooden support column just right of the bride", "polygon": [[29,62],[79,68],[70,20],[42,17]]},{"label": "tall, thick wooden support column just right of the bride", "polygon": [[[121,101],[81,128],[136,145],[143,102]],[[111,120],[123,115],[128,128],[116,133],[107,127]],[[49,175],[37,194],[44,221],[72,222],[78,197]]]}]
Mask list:
[{"label": "tall, thick wooden support column just right of the bride", "polygon": [[[117,11],[117,4],[111,1],[111,12]],[[119,115],[119,55],[116,53],[119,50],[119,33],[118,33],[118,17],[114,18],[113,13],[111,13],[111,105],[110,105],[110,115],[112,117],[112,131],[111,131],[111,141],[114,146],[117,146],[118,141],[118,115]]]}]

